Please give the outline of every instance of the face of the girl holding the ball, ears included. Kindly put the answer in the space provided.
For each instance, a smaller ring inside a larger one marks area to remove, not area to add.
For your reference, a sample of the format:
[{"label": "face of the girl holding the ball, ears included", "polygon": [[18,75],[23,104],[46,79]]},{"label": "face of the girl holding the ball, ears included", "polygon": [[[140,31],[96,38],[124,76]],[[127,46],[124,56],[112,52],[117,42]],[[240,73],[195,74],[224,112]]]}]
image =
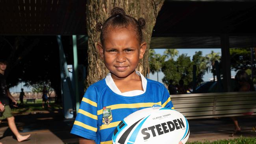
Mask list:
[{"label": "face of the girl holding the ball, ears included", "polygon": [[97,44],[100,57],[104,59],[112,78],[116,79],[126,78],[135,71],[146,47],[145,42],[140,44],[133,30],[126,28],[110,29],[104,39],[104,47]]}]

